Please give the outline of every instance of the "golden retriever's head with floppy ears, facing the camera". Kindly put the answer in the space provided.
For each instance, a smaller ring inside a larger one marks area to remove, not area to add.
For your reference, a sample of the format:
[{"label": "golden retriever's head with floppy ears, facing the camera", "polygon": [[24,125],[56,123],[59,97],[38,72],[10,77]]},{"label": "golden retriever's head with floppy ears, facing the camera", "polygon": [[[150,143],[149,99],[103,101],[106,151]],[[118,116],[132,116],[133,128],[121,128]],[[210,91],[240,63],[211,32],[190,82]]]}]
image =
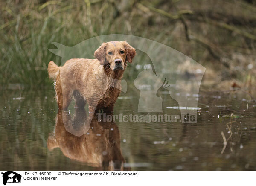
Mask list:
[{"label": "golden retriever's head with floppy ears, facing the camera", "polygon": [[94,56],[102,65],[111,70],[125,70],[127,62],[131,63],[136,54],[135,49],[126,41],[110,41],[103,43],[95,52]]}]

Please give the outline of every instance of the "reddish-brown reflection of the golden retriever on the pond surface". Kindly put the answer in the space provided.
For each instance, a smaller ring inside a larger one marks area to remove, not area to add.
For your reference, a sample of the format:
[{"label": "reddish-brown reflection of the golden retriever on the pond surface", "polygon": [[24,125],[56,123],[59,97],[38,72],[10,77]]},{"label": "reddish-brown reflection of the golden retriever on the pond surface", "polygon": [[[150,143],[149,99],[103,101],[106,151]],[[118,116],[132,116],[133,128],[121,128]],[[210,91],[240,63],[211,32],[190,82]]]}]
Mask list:
[{"label": "reddish-brown reflection of the golden retriever on the pond surface", "polygon": [[[120,149],[120,133],[114,122],[98,121],[94,115],[88,126],[83,126],[87,115],[85,110],[76,111],[74,119],[68,112],[59,111],[55,125],[55,135],[50,134],[49,150],[60,148],[63,154],[73,160],[98,167],[99,170],[124,170],[124,158]],[[69,126],[67,126],[69,125]],[[68,131],[88,130],[81,136]]]}]

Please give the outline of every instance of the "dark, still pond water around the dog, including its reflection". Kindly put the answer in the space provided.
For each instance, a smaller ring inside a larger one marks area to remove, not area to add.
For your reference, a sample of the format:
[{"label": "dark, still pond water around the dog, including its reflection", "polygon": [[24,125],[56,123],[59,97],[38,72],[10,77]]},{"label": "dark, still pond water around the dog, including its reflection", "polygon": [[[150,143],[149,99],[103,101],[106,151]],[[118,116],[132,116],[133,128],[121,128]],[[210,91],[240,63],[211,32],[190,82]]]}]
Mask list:
[{"label": "dark, still pond water around the dog, including its reflection", "polygon": [[[256,103],[246,93],[200,92],[195,124],[95,117],[87,128],[86,110],[58,113],[54,96],[1,93],[1,170],[256,170]],[[137,96],[122,93],[113,114],[138,114]],[[164,96],[163,113],[179,115]]]}]

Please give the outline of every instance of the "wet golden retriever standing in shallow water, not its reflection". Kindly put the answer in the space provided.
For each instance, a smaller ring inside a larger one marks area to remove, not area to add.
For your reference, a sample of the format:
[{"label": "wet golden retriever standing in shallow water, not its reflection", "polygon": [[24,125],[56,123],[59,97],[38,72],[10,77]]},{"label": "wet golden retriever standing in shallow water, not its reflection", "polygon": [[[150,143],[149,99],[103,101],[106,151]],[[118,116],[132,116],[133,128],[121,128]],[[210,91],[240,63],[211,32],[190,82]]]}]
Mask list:
[{"label": "wet golden retriever standing in shallow water, not its reflection", "polygon": [[89,113],[96,109],[113,111],[127,62],[131,63],[135,55],[135,49],[126,41],[110,41],[94,52],[96,59],[73,58],[62,67],[50,61],[48,74],[56,80],[59,110],[67,110],[74,96],[76,107],[88,103]]}]

